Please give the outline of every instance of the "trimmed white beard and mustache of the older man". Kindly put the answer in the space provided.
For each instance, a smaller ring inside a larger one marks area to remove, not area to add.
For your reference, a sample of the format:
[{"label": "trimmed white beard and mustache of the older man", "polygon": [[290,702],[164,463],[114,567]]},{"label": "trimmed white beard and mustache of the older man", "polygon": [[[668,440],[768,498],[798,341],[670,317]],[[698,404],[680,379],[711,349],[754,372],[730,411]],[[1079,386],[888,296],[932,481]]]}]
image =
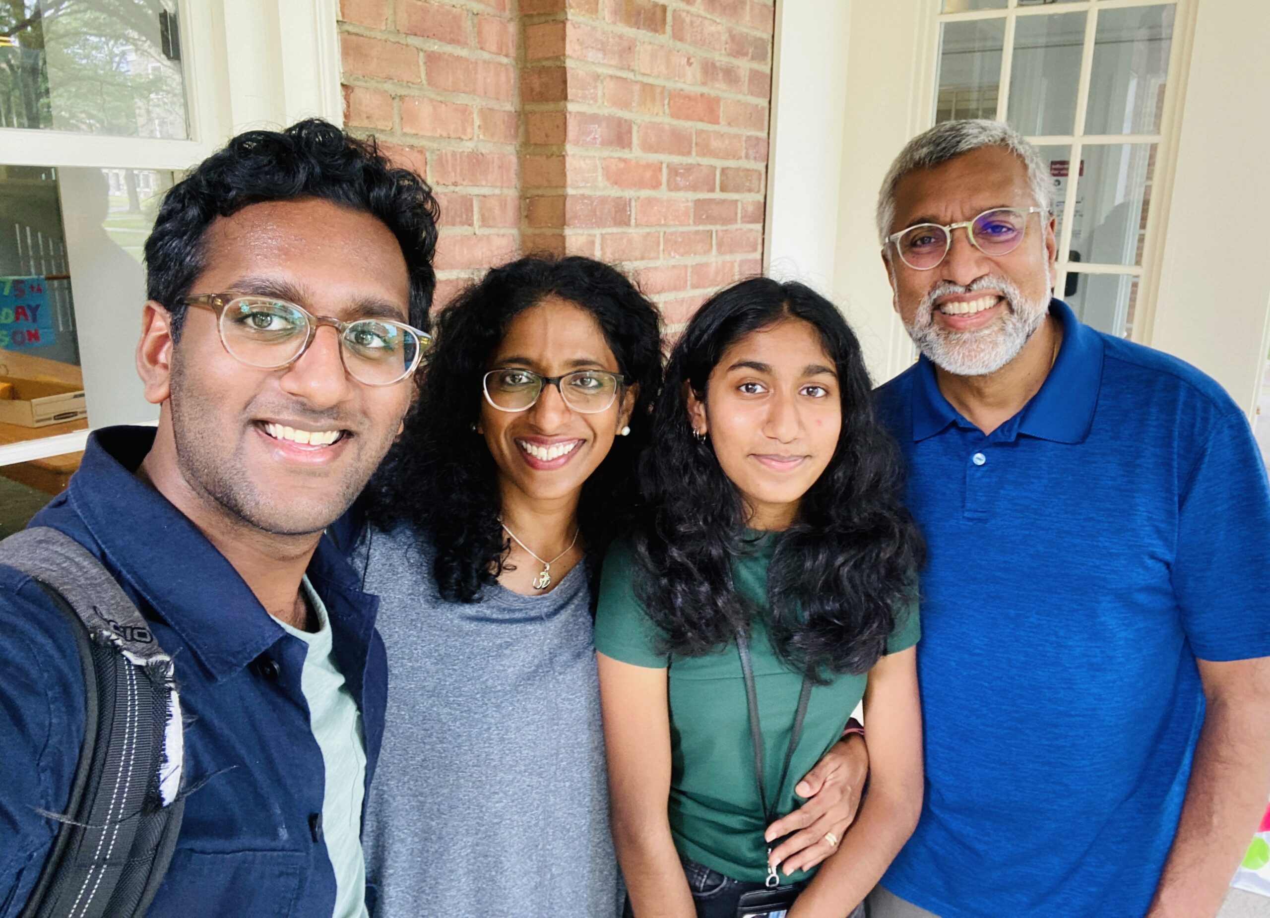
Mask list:
[{"label": "trimmed white beard and mustache of the older man", "polygon": [[[950,331],[935,324],[935,301],[958,293],[994,291],[1007,310],[999,321],[973,331]],[[954,376],[987,376],[1010,363],[1049,314],[1049,296],[1029,300],[1005,277],[984,276],[966,287],[936,284],[917,307],[912,324],[904,323],[917,348],[940,369]]]}]

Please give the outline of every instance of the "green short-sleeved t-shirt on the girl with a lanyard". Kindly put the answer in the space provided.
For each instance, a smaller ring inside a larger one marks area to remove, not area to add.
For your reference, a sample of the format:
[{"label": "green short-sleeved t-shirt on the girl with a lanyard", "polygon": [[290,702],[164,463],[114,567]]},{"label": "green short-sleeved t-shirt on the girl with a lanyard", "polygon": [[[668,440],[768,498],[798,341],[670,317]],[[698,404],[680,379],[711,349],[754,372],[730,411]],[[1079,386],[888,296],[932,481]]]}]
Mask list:
[{"label": "green short-sleeved t-shirt on the girl with a lanyard", "polygon": [[[779,533],[765,533],[752,554],[733,568],[737,590],[767,611],[767,566]],[[705,656],[658,653],[659,629],[635,597],[640,575],[629,543],[615,545],[605,559],[596,612],[596,650],[636,667],[668,668],[671,705],[671,832],[679,853],[735,880],[767,877],[767,828],[754,781],[754,753],[745,707],[745,683],[735,642]],[[906,650],[921,636],[917,603],[898,613],[886,653]],[[772,794],[780,780],[803,677],[776,655],[765,616],[752,625],[751,655],[763,729],[763,763]],[[794,752],[779,811],[785,815],[803,800],[794,786],[829,750],[864,696],[866,675],[838,675],[815,686],[806,708],[803,736]],[[810,874],[796,872],[791,881]],[[784,880],[784,874],[781,875]]]}]

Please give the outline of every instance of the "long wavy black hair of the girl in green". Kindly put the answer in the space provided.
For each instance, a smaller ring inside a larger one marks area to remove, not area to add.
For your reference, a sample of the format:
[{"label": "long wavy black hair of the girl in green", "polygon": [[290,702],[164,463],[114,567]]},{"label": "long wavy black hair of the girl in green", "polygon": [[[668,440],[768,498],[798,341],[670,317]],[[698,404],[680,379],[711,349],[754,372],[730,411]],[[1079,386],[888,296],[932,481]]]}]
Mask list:
[{"label": "long wavy black hair of the girl in green", "polygon": [[745,335],[784,319],[809,323],[833,361],[842,432],[829,465],[803,495],[768,569],[768,632],[780,656],[823,682],[866,672],[914,590],[926,549],[906,509],[899,452],[872,408],[860,342],[838,310],[799,283],[743,281],[715,295],[671,354],[640,469],[648,500],[634,531],[638,594],[664,650],[700,656],[749,630],[756,609],[733,585],[752,550],[747,510],[709,441],[688,420],[687,389],[709,406],[710,373]]}]

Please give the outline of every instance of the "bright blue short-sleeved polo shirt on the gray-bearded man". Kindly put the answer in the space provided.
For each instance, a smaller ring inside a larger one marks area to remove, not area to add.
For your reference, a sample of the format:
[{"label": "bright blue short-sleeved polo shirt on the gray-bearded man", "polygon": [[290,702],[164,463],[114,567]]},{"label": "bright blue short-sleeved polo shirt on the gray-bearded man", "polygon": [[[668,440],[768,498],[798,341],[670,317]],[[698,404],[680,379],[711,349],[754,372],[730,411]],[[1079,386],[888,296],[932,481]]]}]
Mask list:
[{"label": "bright blue short-sleeved polo shirt on the gray-bearded man", "polygon": [[1209,377],[1082,325],[989,436],[923,357],[878,391],[930,546],[926,800],[883,879],[944,918],[1146,913],[1204,719],[1270,655],[1270,490]]}]

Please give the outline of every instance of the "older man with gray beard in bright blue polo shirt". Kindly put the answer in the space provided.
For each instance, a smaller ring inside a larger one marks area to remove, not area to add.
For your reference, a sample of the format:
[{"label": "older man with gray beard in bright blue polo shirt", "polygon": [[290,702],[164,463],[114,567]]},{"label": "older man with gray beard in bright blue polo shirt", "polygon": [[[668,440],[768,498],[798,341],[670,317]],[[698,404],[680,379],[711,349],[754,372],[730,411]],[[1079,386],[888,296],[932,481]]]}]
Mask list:
[{"label": "older man with gray beard in bright blue polo shirt", "polygon": [[908,143],[878,206],[921,359],[878,392],[930,543],[926,797],[872,918],[1212,918],[1270,792],[1270,489],[1209,377],[1050,297],[1036,150]]}]

